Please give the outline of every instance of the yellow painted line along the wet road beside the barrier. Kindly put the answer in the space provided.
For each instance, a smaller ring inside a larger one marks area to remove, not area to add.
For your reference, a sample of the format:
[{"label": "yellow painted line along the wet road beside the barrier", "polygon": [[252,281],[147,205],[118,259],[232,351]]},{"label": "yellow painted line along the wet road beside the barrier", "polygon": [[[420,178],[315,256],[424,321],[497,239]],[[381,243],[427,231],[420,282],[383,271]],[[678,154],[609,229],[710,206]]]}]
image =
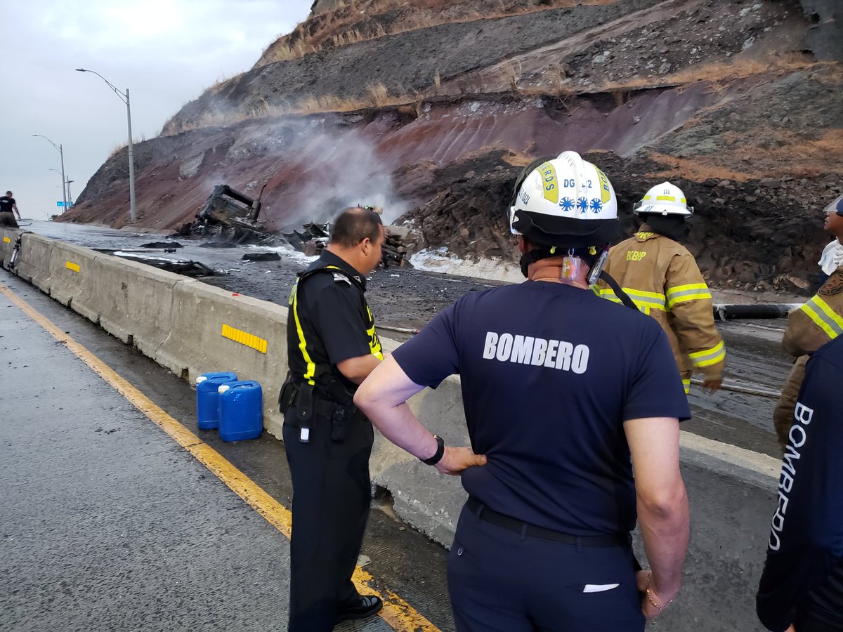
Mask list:
[{"label": "yellow painted line along the wet road beside the barrier", "polygon": [[[103,378],[118,393],[128,399],[137,410],[147,415],[164,432],[170,437],[173,437],[181,447],[184,447],[185,450],[196,457],[218,479],[222,480],[223,483],[234,490],[235,494],[239,495],[255,511],[260,513],[266,519],[266,522],[277,528],[287,538],[290,537],[293,515],[287,507],[267,494],[252,479],[235,468],[226,458],[223,458],[223,455],[207,445],[207,443],[202,442],[199,437],[196,437],[195,434],[187,430],[185,426],[182,426],[173,417],[167,415],[152,399],[149,399],[137,390],[137,388],[133,387],[132,384],[126,382],[114,369],[105,364],[105,362],[102,362],[97,356],[94,356],[83,345],[80,345],[76,340],[65,334],[62,329],[56,327],[49,319],[46,319],[45,316],[36,311],[29,303],[26,303],[23,298],[18,297],[17,294],[8,287],[5,287],[2,283],[0,283],[0,293],[3,293],[8,300],[17,305],[30,319],[35,320],[36,323],[46,329],[53,338],[66,345],[67,349],[76,354],[100,378]],[[406,603],[395,592],[379,590],[375,587],[376,582],[374,581],[374,577],[367,571],[362,570],[360,566],[355,568],[352,581],[354,582],[354,586],[357,587],[357,591],[361,594],[378,595],[384,600],[384,608],[380,611],[379,616],[392,629],[399,630],[400,632],[440,632],[435,625],[422,616],[421,613],[416,612],[409,603]]]}]

